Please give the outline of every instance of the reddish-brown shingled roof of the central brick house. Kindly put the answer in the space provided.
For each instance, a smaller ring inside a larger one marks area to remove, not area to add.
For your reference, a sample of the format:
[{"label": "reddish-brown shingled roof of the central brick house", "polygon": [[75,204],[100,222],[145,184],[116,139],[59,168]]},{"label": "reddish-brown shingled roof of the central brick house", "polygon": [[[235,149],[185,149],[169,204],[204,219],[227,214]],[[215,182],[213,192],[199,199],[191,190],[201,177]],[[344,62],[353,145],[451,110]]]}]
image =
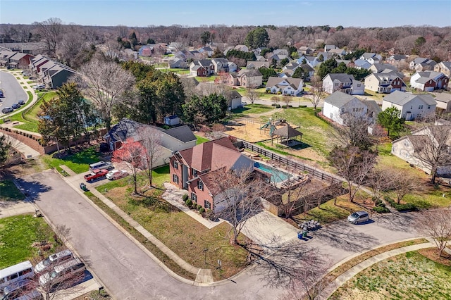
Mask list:
[{"label": "reddish-brown shingled roof of the central brick house", "polygon": [[179,154],[187,165],[198,171],[230,167],[241,155],[228,137],[196,145],[179,151]]}]

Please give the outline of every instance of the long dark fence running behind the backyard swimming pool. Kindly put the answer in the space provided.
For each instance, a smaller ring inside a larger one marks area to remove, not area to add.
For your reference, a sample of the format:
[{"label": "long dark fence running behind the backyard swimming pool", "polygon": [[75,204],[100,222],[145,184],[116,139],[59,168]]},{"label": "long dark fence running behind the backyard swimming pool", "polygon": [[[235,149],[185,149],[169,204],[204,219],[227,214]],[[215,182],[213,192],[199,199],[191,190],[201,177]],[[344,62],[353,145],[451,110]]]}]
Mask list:
[{"label": "long dark fence running behind the backyard swimming pool", "polygon": [[307,172],[311,175],[311,177],[315,177],[319,180],[330,182],[330,184],[333,184],[335,182],[340,182],[340,180],[338,180],[337,178],[335,178],[327,173],[323,173],[321,170],[317,170],[316,168],[311,168],[311,166],[309,166],[309,165],[306,165],[304,163],[299,163],[297,161],[292,161],[292,160],[286,158],[285,156],[280,156],[279,154],[275,154],[272,151],[268,151],[264,148],[261,148],[260,146],[251,144],[244,140],[240,140],[240,142],[241,142],[243,148],[249,149],[250,151],[257,152],[258,154],[261,154],[263,156],[271,158],[271,160],[273,160],[273,161],[278,161],[279,163],[283,163],[284,165],[294,168],[298,172]]}]

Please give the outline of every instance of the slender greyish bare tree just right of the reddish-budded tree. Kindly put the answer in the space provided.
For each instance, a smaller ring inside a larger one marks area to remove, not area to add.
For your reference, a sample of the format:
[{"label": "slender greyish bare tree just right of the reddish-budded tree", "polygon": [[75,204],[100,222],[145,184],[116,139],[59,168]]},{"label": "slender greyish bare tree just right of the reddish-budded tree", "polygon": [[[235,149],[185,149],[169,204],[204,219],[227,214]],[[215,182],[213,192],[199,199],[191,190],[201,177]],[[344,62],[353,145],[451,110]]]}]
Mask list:
[{"label": "slender greyish bare tree just right of the reddish-budded tree", "polygon": [[149,177],[149,186],[152,187],[152,169],[161,154],[163,154],[161,132],[152,127],[148,127],[141,135],[142,146],[144,146],[144,161],[147,169],[147,177]]}]

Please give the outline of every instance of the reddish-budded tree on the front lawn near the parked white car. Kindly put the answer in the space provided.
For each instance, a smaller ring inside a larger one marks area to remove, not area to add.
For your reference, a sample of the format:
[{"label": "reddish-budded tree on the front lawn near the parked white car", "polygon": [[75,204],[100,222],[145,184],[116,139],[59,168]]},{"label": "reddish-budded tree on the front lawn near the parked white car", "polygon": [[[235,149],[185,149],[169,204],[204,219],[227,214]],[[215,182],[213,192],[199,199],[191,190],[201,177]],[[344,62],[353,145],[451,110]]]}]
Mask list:
[{"label": "reddish-budded tree on the front lawn near the parked white car", "polygon": [[132,138],[128,138],[125,142],[123,142],[121,148],[113,152],[113,156],[111,158],[112,161],[119,163],[124,162],[128,166],[130,172],[132,173],[135,194],[138,194],[137,174],[140,171],[140,168],[143,168],[145,165],[145,155],[146,151],[142,144],[140,142],[135,142]]}]

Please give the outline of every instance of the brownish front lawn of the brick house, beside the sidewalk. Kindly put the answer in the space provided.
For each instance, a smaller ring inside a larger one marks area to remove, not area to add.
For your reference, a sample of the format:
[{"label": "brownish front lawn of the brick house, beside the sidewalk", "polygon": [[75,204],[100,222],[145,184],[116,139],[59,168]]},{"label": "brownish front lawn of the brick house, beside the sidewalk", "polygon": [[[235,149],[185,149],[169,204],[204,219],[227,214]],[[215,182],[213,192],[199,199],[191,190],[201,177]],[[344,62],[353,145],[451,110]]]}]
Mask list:
[{"label": "brownish front lawn of the brick house, beside the sidewalk", "polygon": [[[145,184],[146,179],[140,175],[140,186]],[[161,187],[163,182],[169,180],[168,166],[154,170],[154,186]],[[222,261],[224,277],[234,275],[245,267],[247,251],[230,244],[228,223],[207,229],[161,199],[161,189],[148,190],[145,196],[131,196],[129,177],[101,185],[97,190],[185,261],[198,268],[211,268],[215,280],[223,279],[218,270],[212,268],[217,265],[218,259]],[[209,249],[206,263],[204,256],[193,255],[202,254],[204,249]]]}]

